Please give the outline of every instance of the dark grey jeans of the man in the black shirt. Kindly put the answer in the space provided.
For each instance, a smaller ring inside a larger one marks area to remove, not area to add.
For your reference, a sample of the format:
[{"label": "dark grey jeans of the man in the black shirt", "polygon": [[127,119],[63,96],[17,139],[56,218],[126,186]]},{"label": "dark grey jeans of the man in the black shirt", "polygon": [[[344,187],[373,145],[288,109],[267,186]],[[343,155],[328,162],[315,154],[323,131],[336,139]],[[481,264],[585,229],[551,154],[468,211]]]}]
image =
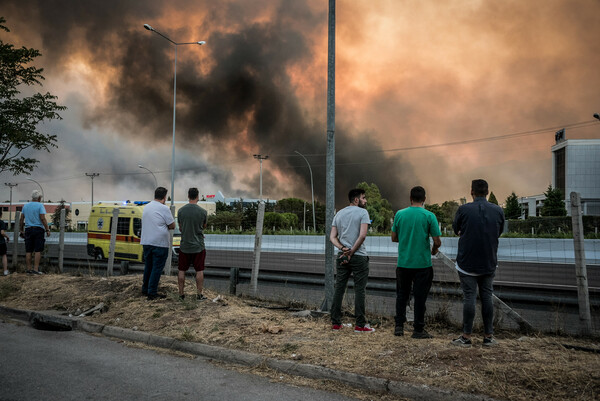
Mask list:
[{"label": "dark grey jeans of the man in the black shirt", "polygon": [[477,301],[477,288],[481,299],[481,317],[486,335],[494,334],[494,276],[495,273],[483,276],[469,276],[458,272],[460,286],[463,290],[463,333],[471,334],[473,320],[475,319],[475,303]]}]

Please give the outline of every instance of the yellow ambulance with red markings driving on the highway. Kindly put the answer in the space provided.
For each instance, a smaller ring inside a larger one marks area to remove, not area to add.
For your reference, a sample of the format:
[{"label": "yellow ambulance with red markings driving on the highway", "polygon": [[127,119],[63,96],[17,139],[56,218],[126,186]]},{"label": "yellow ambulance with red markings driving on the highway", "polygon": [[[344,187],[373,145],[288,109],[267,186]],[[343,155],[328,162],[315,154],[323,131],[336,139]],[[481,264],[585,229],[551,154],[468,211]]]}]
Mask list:
[{"label": "yellow ambulance with red markings driving on the highway", "polygon": [[[88,255],[94,259],[108,259],[113,211],[119,209],[115,260],[142,263],[144,261],[144,250],[140,244],[140,237],[142,236],[142,212],[147,203],[98,203],[94,205],[88,221]],[[173,235],[173,258],[175,259],[179,253],[180,242],[181,232],[178,227],[175,227]]]}]

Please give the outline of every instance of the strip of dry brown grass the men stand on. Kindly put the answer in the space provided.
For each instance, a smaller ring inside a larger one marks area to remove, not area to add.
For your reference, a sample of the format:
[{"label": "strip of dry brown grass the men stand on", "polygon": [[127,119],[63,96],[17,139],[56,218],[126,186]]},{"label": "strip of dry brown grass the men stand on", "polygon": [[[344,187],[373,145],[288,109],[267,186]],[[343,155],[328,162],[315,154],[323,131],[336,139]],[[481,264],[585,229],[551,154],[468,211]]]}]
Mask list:
[{"label": "strip of dry brown grass the men stand on", "polygon": [[[74,277],[13,274],[0,279],[0,302],[9,307],[77,314],[104,302],[108,310],[88,319],[185,341],[219,345],[261,355],[294,359],[413,384],[426,384],[511,400],[595,400],[600,395],[600,356],[561,344],[598,348],[585,339],[499,335],[498,347],[451,346],[456,333],[442,326],[432,340],[394,337],[393,321],[380,319],[373,334],[351,328],[332,332],[327,317],[298,318],[285,310],[253,306],[255,300],[205,291],[209,300],[177,298],[174,277],[163,277],[165,300],[141,296],[141,277]],[[351,318],[347,322],[352,322]],[[407,327],[408,329],[408,327]],[[387,397],[386,397],[387,398]]]}]

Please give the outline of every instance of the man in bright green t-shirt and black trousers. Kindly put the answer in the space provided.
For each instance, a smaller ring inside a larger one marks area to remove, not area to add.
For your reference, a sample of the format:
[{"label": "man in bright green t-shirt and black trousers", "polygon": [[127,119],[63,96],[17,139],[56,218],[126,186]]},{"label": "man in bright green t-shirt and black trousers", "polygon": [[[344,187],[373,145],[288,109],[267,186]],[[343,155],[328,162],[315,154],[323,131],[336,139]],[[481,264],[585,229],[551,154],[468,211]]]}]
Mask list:
[{"label": "man in bright green t-shirt and black trousers", "polygon": [[[404,335],[406,304],[410,290],[414,293],[414,323],[412,338],[432,338],[425,331],[425,302],[433,282],[431,255],[442,245],[435,215],[425,210],[425,189],[410,190],[410,207],[399,210],[392,226],[392,242],[398,243],[396,268],[396,329],[394,335]],[[433,247],[429,242],[433,238]]]}]

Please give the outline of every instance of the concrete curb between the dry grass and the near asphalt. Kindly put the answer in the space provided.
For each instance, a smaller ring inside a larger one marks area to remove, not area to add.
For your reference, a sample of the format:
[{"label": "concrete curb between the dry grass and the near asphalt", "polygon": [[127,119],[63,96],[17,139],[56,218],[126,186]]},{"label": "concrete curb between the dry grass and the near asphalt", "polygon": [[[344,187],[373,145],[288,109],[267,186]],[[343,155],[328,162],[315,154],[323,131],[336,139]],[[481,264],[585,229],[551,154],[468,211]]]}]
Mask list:
[{"label": "concrete curb between the dry grass and the near asphalt", "polygon": [[56,312],[38,312],[23,309],[9,308],[0,305],[0,315],[10,316],[19,320],[26,320],[33,324],[35,321],[49,323],[55,326],[68,327],[69,330],[80,330],[88,333],[100,333],[107,337],[114,337],[125,341],[140,342],[150,346],[185,352],[193,355],[211,358],[218,361],[235,363],[246,366],[266,365],[269,368],[296,376],[319,380],[332,380],[348,384],[352,387],[390,393],[412,400],[445,401],[495,401],[485,395],[467,394],[454,390],[444,390],[425,385],[414,385],[394,380],[364,376],[358,373],[335,370],[323,366],[301,364],[295,361],[267,358],[246,351],[233,350],[214,345],[191,343],[163,337],[138,330],[124,329],[84,320],[80,317],[69,317],[56,314]]}]

